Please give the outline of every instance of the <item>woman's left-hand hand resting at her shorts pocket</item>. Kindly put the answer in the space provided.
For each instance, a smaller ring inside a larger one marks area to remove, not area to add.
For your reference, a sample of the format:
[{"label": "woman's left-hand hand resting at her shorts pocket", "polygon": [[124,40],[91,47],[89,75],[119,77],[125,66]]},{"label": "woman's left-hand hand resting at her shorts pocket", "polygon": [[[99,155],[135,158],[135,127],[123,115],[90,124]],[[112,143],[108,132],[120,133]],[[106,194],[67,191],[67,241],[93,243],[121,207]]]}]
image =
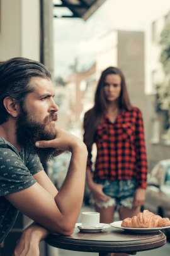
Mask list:
[{"label": "woman's left-hand hand resting at her shorts pocket", "polygon": [[93,183],[93,186],[91,186],[90,190],[97,202],[108,202],[111,199],[111,197],[108,197],[105,193],[103,193],[103,185],[101,184]]}]

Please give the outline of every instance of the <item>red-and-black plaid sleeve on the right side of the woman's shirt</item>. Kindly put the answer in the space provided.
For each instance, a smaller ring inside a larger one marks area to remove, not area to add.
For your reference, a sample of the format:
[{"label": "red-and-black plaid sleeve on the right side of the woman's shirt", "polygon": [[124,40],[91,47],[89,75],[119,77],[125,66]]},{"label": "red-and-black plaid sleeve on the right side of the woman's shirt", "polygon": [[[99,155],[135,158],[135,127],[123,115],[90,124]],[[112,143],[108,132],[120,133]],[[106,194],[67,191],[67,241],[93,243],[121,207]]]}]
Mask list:
[{"label": "red-and-black plaid sleeve on the right side of the woman's shirt", "polygon": [[148,164],[142,113],[138,109],[135,129],[135,152],[137,157],[137,188],[146,188]]}]

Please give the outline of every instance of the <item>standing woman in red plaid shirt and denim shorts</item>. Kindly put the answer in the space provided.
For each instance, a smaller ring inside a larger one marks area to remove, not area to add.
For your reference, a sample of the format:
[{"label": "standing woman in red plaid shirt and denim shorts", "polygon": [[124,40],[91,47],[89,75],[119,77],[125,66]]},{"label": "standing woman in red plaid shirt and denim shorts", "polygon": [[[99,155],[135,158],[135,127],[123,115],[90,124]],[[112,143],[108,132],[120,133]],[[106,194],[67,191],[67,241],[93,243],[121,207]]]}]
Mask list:
[{"label": "standing woman in red plaid shirt and denim shorts", "polygon": [[[118,68],[101,73],[94,107],[84,115],[84,143],[89,153],[87,183],[100,221],[113,222],[115,209],[120,219],[137,215],[144,204],[148,173],[144,126],[140,109],[130,104],[125,77]],[[93,143],[97,147],[94,172]]]}]

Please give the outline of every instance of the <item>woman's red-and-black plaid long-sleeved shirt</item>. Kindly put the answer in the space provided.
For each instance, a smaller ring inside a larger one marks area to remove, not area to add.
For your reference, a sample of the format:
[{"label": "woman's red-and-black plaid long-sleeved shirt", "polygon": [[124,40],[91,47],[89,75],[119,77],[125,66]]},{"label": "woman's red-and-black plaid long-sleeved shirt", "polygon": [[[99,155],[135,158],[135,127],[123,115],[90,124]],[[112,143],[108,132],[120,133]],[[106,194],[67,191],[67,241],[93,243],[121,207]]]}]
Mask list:
[{"label": "woman's red-and-black plaid long-sleeved shirt", "polygon": [[[84,143],[86,143],[86,114],[84,116]],[[142,113],[137,107],[118,114],[111,123],[105,114],[94,135],[98,153],[94,178],[101,180],[137,181],[137,188],[146,188],[148,173]],[[91,169],[91,149],[88,149],[87,167]]]}]

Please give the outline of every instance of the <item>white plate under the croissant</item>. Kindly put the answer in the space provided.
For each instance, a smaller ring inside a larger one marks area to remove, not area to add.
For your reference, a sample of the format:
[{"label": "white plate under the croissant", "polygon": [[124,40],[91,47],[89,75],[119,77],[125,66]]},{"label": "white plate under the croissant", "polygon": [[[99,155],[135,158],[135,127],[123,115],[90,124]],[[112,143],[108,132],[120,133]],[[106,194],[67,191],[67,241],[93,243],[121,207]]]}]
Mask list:
[{"label": "white plate under the croissant", "polygon": [[136,232],[136,233],[150,233],[150,232],[157,232],[161,229],[170,228],[170,226],[162,227],[162,228],[125,228],[121,226],[122,221],[115,221],[110,223],[110,226],[114,228],[121,228],[125,229],[129,232]]}]

